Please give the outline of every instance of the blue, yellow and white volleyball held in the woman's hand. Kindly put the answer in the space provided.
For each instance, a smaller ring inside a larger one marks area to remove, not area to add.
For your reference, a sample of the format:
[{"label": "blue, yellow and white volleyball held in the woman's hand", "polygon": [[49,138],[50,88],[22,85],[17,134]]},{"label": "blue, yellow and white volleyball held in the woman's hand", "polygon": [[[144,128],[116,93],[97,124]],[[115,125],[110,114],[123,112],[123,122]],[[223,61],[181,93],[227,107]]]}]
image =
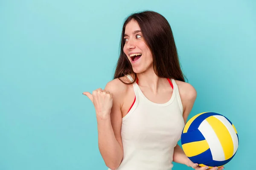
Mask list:
[{"label": "blue, yellow and white volleyball held in the woman's hand", "polygon": [[221,167],[236,154],[239,138],[235,126],[227,117],[214,112],[193,116],[181,134],[186,156],[199,166]]}]

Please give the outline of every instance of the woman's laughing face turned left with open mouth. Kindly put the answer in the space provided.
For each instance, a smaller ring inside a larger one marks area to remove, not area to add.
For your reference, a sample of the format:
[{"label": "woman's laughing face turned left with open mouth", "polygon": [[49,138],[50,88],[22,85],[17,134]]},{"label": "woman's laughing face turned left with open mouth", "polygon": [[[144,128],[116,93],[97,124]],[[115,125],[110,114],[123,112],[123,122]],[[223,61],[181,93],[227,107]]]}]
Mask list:
[{"label": "woman's laughing face turned left with open mouth", "polygon": [[136,20],[131,20],[125,26],[124,41],[123,51],[131,62],[134,73],[142,73],[153,67],[151,51],[143,39]]}]

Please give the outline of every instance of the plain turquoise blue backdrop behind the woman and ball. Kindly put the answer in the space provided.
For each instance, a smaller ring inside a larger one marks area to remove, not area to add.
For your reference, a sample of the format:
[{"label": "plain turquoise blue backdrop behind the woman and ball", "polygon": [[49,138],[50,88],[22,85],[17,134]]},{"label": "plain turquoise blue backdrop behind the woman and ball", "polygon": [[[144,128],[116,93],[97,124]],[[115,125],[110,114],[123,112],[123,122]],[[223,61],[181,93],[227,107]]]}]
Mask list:
[{"label": "plain turquoise blue backdrop behind the woman and ball", "polygon": [[82,92],[111,81],[122,23],[142,10],[163,14],[172,27],[198,92],[189,118],[227,116],[240,145],[226,169],[254,167],[255,1],[0,0],[0,170],[107,169]]}]

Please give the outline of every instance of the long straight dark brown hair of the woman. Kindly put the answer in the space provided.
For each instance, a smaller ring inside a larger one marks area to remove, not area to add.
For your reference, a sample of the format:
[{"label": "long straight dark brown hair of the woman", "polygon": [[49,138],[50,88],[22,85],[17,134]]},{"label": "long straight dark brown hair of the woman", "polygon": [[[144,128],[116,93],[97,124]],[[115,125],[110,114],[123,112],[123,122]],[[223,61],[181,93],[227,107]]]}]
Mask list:
[{"label": "long straight dark brown hair of the woman", "polygon": [[[151,50],[155,74],[158,77],[173,78],[185,82],[186,77],[183,75],[180,68],[171,26],[165,17],[154,11],[142,11],[131,14],[126,18],[122,27],[120,56],[116,64],[116,71],[113,78],[120,79],[120,77],[126,74],[133,74],[134,81],[131,83],[134,83],[137,79],[137,75],[132,69],[131,62],[123,51],[125,45],[125,26],[131,20],[137,21],[143,34],[143,39]],[[120,81],[122,80],[120,79]]]}]

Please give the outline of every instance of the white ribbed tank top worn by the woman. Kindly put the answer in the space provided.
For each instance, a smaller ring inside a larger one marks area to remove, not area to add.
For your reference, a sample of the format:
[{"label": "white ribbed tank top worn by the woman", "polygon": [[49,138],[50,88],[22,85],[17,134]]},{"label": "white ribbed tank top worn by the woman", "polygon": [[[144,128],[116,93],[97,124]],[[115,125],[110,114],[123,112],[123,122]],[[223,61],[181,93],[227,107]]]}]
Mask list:
[{"label": "white ribbed tank top worn by the woman", "polygon": [[[127,77],[133,81],[130,75]],[[147,99],[134,82],[134,104],[122,118],[124,155],[116,170],[172,169],[173,150],[185,124],[177,84],[174,79],[169,82],[173,93],[163,104]]]}]

